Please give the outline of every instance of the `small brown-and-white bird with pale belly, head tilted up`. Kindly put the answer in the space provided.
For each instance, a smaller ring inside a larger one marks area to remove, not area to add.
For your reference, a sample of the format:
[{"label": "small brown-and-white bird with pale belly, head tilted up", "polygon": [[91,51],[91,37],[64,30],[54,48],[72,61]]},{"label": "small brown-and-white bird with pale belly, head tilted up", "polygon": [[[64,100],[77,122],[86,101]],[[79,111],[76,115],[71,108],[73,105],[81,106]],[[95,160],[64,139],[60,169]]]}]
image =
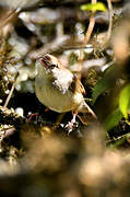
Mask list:
[{"label": "small brown-and-white bird with pale belly, head tilted up", "polygon": [[52,55],[40,56],[36,61],[35,92],[39,102],[57,113],[72,112],[71,123],[74,123],[78,113],[95,113],[86,104],[84,86],[76,74],[61,65]]}]

